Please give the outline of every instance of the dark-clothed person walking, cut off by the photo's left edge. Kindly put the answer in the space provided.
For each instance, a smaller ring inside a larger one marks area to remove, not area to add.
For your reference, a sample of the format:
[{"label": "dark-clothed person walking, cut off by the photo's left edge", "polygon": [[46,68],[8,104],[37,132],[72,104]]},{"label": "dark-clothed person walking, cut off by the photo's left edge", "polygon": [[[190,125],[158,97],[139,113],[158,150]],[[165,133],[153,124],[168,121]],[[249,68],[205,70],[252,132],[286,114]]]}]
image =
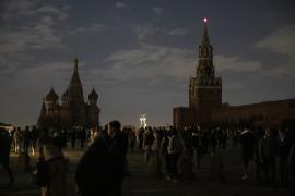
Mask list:
[{"label": "dark-clothed person walking, cut off by the photo's left edge", "polygon": [[11,138],[7,130],[0,127],[0,164],[3,166],[10,177],[10,184],[14,183],[12,170],[9,166]]}]

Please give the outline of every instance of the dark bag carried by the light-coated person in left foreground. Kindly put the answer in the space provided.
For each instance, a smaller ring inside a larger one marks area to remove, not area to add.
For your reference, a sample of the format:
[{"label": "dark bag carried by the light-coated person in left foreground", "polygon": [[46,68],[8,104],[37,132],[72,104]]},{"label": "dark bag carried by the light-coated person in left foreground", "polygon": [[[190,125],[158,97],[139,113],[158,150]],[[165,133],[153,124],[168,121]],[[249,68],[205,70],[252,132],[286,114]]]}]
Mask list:
[{"label": "dark bag carried by the light-coated person in left foreground", "polygon": [[46,161],[39,161],[33,168],[33,183],[40,187],[50,184],[49,167]]}]

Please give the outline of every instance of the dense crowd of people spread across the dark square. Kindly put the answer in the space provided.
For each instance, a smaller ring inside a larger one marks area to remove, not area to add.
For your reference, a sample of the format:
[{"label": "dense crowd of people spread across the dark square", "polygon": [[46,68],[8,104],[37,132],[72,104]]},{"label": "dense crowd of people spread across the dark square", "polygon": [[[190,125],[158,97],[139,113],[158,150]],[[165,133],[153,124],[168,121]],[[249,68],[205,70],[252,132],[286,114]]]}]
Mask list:
[{"label": "dense crowd of people spread across the dark square", "polygon": [[[291,127],[261,128],[253,126],[210,126],[133,128],[121,127],[111,121],[104,128],[71,131],[37,130],[0,131],[0,163],[14,183],[9,166],[10,151],[31,154],[39,151],[39,161],[47,162],[51,183],[42,185],[44,196],[64,195],[67,189],[67,158],[63,148],[84,148],[75,170],[76,191],[80,195],[97,194],[119,196],[121,183],[128,170],[128,151],[140,151],[143,162],[153,167],[162,176],[177,183],[179,174],[193,175],[202,168],[202,159],[209,156],[212,171],[217,179],[224,180],[224,160],[219,151],[226,148],[240,150],[244,166],[241,180],[251,175],[249,164],[253,164],[257,181],[267,186],[295,187],[295,133]],[[239,145],[238,145],[239,144]],[[240,146],[240,148],[238,148]],[[153,161],[151,161],[153,160]],[[164,171],[164,170],[165,171]],[[294,193],[294,189],[293,189]]]}]

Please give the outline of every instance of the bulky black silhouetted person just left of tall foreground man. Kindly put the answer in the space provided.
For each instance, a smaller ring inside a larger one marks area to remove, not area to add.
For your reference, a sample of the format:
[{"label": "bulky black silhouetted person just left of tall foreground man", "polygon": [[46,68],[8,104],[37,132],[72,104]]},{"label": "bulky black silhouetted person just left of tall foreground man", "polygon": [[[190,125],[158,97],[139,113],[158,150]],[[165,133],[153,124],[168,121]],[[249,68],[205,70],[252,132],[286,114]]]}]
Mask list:
[{"label": "bulky black silhouetted person just left of tall foreground man", "polygon": [[76,167],[75,182],[79,194],[81,196],[109,196],[110,170],[107,143],[96,132],[93,144]]}]

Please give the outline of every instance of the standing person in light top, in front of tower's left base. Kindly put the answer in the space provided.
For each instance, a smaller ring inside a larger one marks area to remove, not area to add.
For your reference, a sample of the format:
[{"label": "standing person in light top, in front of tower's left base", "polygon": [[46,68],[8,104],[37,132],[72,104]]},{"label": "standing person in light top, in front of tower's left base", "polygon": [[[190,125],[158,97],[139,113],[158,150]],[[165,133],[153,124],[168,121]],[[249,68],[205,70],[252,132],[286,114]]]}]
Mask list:
[{"label": "standing person in light top, in front of tower's left base", "polygon": [[181,143],[175,128],[172,128],[168,133],[168,146],[167,146],[167,180],[177,182],[178,180],[178,167],[177,162],[181,154]]}]

